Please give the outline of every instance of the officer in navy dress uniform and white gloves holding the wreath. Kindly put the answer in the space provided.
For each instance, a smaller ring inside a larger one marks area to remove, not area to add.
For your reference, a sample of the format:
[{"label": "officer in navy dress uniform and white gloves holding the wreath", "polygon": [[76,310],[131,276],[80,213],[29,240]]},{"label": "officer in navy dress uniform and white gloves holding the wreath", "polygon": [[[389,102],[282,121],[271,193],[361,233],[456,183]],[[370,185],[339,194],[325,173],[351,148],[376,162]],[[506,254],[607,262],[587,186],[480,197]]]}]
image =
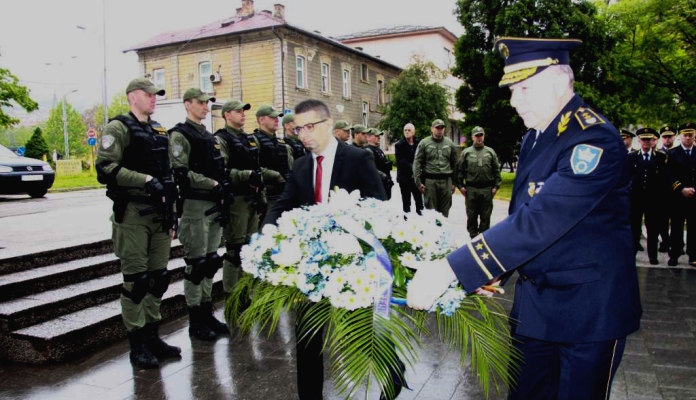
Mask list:
[{"label": "officer in navy dress uniform and white gloves holding the wreath", "polygon": [[523,356],[509,399],[605,399],[640,324],[619,132],[573,91],[574,39],[501,38],[500,86],[530,128],[509,216],[444,260],[421,263],[408,303],[429,308],[454,279],[471,293],[517,271],[511,312]]}]

